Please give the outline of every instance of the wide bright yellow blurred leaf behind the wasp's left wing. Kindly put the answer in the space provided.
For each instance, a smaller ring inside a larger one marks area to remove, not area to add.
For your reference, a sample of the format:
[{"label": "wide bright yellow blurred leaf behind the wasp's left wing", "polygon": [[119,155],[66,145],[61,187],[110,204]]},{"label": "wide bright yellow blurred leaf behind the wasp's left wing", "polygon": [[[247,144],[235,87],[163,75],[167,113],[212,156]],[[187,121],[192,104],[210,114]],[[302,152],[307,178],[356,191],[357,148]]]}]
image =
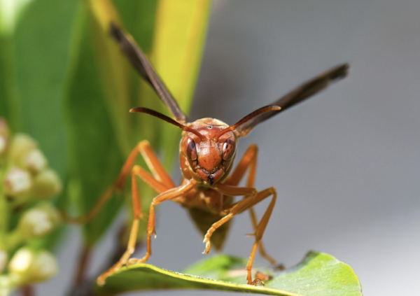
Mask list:
[{"label": "wide bright yellow blurred leaf behind the wasp's left wing", "polygon": [[[210,0],[160,0],[156,15],[152,62],[181,110],[188,114],[200,71]],[[165,164],[174,160],[179,132],[174,127],[161,131]]]}]

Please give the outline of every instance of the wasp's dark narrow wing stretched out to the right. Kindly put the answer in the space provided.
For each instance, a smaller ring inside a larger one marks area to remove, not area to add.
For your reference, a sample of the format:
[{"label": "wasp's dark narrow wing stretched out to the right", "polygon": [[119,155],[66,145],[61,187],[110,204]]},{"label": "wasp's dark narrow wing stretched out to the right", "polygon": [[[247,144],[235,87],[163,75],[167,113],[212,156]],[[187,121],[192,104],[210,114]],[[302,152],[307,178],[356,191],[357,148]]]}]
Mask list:
[{"label": "wasp's dark narrow wing stretched out to the right", "polygon": [[239,136],[246,136],[248,132],[250,132],[253,127],[255,127],[255,125],[258,125],[258,123],[271,118],[281,111],[285,111],[287,108],[299,104],[301,101],[308,99],[318,92],[321,92],[321,90],[324,90],[326,87],[328,87],[332,81],[346,77],[348,69],[348,64],[342,64],[326,71],[325,73],[322,73],[319,76],[316,76],[315,78],[309,80],[307,83],[300,85],[295,90],[281,97],[279,100],[274,101],[273,104],[270,104],[281,107],[281,110],[262,113],[255,118],[245,122],[243,125],[237,127],[236,130],[239,132]]}]

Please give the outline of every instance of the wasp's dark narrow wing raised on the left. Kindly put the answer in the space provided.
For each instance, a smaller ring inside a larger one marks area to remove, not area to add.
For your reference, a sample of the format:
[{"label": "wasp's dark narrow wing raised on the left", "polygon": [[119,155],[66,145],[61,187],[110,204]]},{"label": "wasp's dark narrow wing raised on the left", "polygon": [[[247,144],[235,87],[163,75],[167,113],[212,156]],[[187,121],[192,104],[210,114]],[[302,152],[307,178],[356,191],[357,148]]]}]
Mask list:
[{"label": "wasp's dark narrow wing raised on the left", "polygon": [[111,23],[111,36],[120,45],[121,50],[125,53],[127,58],[134,66],[134,69],[139,72],[141,77],[153,87],[155,92],[158,94],[160,99],[169,108],[169,111],[174,116],[177,122],[185,123],[186,115],[181,111],[174,97],[167,89],[166,85],[162,82],[162,79],[158,76],[151,62],[148,60],[143,51],[139,48],[132,36],[125,34],[122,29],[117,27],[116,24]]}]

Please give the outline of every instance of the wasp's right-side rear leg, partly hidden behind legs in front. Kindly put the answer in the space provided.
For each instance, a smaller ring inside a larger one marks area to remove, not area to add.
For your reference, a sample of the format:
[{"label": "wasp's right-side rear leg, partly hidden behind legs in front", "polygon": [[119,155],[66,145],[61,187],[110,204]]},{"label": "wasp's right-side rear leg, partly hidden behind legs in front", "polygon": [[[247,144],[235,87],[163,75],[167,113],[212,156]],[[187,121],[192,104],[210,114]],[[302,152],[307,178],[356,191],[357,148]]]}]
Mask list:
[{"label": "wasp's right-side rear leg, partly hidden behind legs in front", "polygon": [[[248,150],[246,150],[235,171],[233,171],[233,173],[228,178],[228,181],[226,181],[226,185],[237,186],[241,179],[244,178],[246,170],[249,168],[248,178],[246,180],[246,187],[253,188],[257,168],[257,155],[258,146],[252,144],[251,146],[249,146]],[[249,209],[249,215],[251,218],[253,231],[255,232],[257,230],[257,216],[255,215],[255,211],[253,208]],[[262,244],[262,241],[260,241],[260,248],[258,250],[260,251],[260,255],[262,256],[262,258],[268,260],[270,264],[274,265],[276,263],[276,260],[274,260],[272,256],[268,255],[265,251],[265,247],[264,244]]]}]

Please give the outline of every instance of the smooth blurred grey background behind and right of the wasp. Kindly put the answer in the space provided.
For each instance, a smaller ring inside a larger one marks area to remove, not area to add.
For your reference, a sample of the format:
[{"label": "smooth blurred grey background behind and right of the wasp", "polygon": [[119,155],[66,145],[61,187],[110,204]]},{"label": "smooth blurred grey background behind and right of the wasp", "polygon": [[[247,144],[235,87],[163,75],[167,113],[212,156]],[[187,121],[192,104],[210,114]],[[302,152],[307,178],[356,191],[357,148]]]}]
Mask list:
[{"label": "smooth blurred grey background behind and right of the wasp", "polygon": [[[256,188],[279,192],[267,251],[286,267],[309,250],[330,253],[353,267],[365,295],[420,295],[419,15],[419,0],[216,0],[190,113],[233,124],[318,73],[351,64],[348,78],[241,139],[238,155],[257,143]],[[179,180],[179,169],[173,176]],[[258,217],[267,204],[257,206]],[[80,244],[80,230],[72,232],[59,252],[68,268],[39,295],[61,295],[69,285]],[[177,204],[160,206],[157,232],[151,264],[181,270],[204,258],[202,236]],[[248,257],[249,232],[244,213],[223,252]],[[92,272],[112,239],[99,247]],[[260,256],[259,265],[267,265]]]}]

